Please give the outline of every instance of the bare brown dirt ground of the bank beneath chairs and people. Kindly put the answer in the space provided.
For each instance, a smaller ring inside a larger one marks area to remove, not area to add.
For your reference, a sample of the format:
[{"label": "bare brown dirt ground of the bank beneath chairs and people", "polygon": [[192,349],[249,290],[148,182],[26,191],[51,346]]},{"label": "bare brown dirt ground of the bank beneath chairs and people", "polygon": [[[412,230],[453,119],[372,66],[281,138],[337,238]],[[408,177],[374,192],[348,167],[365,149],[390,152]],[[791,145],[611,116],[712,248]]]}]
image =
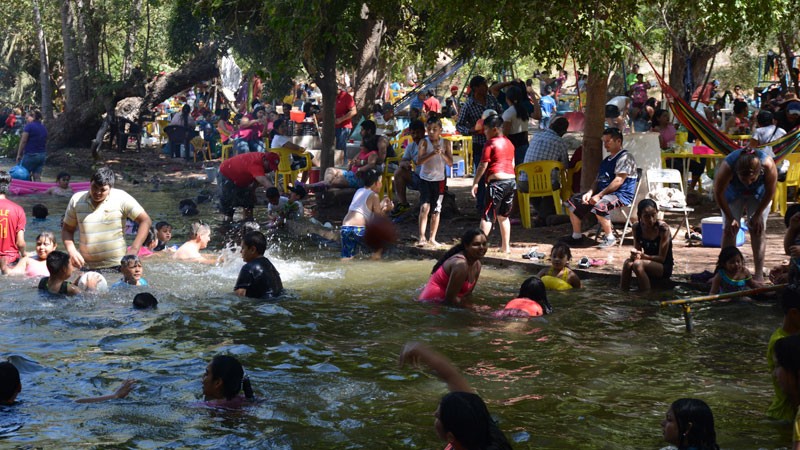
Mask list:
[{"label": "bare brown dirt ground of the bank beneath chairs and people", "polygon": [[[143,148],[141,152],[105,152],[103,157],[102,161],[92,161],[88,150],[85,149],[64,149],[51,152],[48,156],[44,179],[53,180],[56,172],[60,170],[68,170],[73,175],[88,177],[94,167],[108,164],[118,173],[121,173],[125,182],[128,183],[159,183],[162,185],[162,189],[168,189],[170,184],[180,183],[185,185],[187,182],[196,182],[198,187],[206,186],[206,175],[203,171],[202,162],[184,163],[181,160],[172,160],[166,158],[155,148]],[[7,164],[4,163],[3,165]],[[11,165],[13,165],[13,162],[11,162]],[[439,242],[448,244],[448,246],[456,243],[465,229],[479,224],[474,199],[470,195],[471,184],[472,178],[451,178],[448,180],[448,189],[455,195],[459,213],[443,214],[439,227]],[[215,186],[207,187],[212,190],[215,189]],[[418,194],[415,191],[409,191],[409,201],[412,206],[415,205],[417,199]],[[333,205],[329,203],[320,202],[314,196],[309,196],[304,202],[307,211],[318,220],[323,223],[329,221],[338,226],[347,211],[347,202],[334,203]],[[695,212],[690,214],[690,224],[699,227],[701,219],[716,215],[719,215],[719,210],[714,202],[704,199],[701,205],[695,207]],[[667,223],[672,227],[678,226],[682,219],[681,214],[668,213],[665,217]],[[592,226],[585,229],[584,234],[593,238],[595,228],[596,226]],[[618,225],[617,228],[621,230],[622,225]],[[399,236],[398,246],[410,254],[435,257],[446,250],[446,247],[439,249],[417,249],[414,247],[418,231],[417,211],[413,207],[411,212],[406,213],[402,220],[399,221],[397,229]],[[766,270],[788,260],[788,257],[783,252],[784,231],[783,217],[776,213],[770,214],[767,224]],[[536,247],[539,252],[549,255],[550,248],[558,238],[566,236],[570,232],[568,222],[555,226],[530,229],[525,229],[520,224],[514,224],[511,227],[512,253],[510,256],[506,256],[497,251],[500,238],[499,231],[495,229],[489,236],[490,250],[487,253],[486,263],[497,266],[530,265],[532,266],[531,271],[536,270],[537,267],[542,266],[542,262],[531,262],[523,259],[522,255],[533,247]],[[689,274],[703,272],[704,270],[713,271],[719,253],[718,248],[708,248],[701,245],[689,246],[684,234],[685,230],[681,230],[680,236],[673,242],[675,258],[673,278],[678,281],[688,281]],[[604,260],[606,263],[583,271],[584,276],[618,276],[622,263],[630,254],[632,242],[632,239],[628,238],[622,247],[615,246],[606,249],[597,249],[592,246],[573,248],[572,267],[574,268],[577,265],[582,256],[587,256],[592,259]],[[740,249],[752,269],[752,249],[749,238]],[[544,263],[546,264],[546,262]]]}]

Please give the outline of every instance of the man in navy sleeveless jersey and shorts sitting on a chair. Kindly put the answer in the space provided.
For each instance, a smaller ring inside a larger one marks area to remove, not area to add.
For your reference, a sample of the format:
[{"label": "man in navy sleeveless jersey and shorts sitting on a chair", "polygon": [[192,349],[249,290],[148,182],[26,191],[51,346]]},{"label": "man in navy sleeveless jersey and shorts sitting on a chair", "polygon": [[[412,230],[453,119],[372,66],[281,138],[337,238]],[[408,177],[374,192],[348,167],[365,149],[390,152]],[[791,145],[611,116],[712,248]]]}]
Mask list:
[{"label": "man in navy sleeveless jersey and shorts sitting on a chair", "polygon": [[576,194],[567,201],[572,235],[562,239],[567,244],[578,244],[583,239],[581,219],[592,213],[605,234],[599,248],[611,247],[617,239],[611,229],[609,214],[621,206],[633,203],[636,190],[636,161],[633,155],[622,148],[622,131],[608,128],[603,132],[603,147],[609,155],[600,163],[597,179],[591,189]]}]

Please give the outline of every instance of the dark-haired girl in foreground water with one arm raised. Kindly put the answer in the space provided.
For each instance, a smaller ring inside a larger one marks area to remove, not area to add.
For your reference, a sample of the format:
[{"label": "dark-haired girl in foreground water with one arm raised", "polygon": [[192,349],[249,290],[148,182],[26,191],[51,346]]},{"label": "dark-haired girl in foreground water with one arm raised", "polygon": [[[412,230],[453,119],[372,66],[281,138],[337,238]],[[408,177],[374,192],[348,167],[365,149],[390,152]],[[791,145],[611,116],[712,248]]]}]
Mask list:
[{"label": "dark-haired girl in foreground water with one arm raised", "polygon": [[409,342],[400,353],[400,366],[406,363],[425,366],[447,383],[450,393],[442,397],[434,412],[436,434],[447,442],[445,450],[511,448],[486,403],[447,358],[424,344]]}]

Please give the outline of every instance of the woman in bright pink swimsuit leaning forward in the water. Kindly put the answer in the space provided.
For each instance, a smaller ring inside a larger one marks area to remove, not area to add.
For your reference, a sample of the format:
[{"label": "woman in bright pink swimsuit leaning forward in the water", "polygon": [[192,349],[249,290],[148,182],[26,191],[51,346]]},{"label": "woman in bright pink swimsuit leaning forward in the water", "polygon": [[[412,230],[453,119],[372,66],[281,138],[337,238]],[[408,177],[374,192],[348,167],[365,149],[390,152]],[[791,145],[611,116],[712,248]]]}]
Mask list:
[{"label": "woman in bright pink swimsuit leaning forward in the water", "polygon": [[478,229],[468,230],[461,242],[447,251],[433,266],[431,278],[422,289],[421,301],[467,306],[468,297],[481,274],[481,259],[486,254],[486,235]]}]

